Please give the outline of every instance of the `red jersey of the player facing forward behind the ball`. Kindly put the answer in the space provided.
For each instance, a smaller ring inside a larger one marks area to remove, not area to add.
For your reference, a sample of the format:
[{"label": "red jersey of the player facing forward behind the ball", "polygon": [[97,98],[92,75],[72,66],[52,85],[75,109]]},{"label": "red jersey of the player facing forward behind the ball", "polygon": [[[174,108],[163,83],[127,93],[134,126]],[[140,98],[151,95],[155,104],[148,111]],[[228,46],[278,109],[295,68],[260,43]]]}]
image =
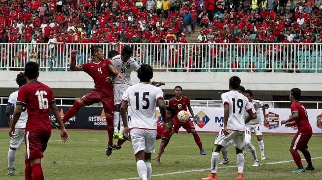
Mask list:
[{"label": "red jersey of the player facing forward behind the ball", "polygon": [[181,96],[180,100],[176,99],[175,97],[169,100],[169,107],[172,107],[176,110],[176,115],[173,118],[174,123],[185,123],[178,120],[178,113],[182,110],[187,111],[187,105],[190,105],[190,99],[184,95]]}]

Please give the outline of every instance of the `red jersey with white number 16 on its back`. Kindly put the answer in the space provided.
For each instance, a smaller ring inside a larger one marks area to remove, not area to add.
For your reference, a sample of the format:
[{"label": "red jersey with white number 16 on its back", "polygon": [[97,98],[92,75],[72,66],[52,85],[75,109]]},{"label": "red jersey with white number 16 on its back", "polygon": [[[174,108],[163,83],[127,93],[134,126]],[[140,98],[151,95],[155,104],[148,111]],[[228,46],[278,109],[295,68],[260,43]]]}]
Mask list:
[{"label": "red jersey with white number 16 on its back", "polygon": [[27,107],[26,131],[46,128],[51,130],[49,104],[55,102],[52,90],[40,83],[32,82],[19,88],[17,105]]}]

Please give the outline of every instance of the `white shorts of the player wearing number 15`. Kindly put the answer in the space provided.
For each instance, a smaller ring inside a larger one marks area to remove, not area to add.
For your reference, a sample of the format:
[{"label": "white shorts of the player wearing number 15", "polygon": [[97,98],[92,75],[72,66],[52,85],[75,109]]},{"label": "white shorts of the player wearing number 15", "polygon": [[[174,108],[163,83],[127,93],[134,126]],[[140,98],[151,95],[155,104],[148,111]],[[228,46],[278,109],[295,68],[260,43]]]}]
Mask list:
[{"label": "white shorts of the player wearing number 15", "polygon": [[156,130],[133,128],[130,132],[134,154],[140,150],[155,152]]}]

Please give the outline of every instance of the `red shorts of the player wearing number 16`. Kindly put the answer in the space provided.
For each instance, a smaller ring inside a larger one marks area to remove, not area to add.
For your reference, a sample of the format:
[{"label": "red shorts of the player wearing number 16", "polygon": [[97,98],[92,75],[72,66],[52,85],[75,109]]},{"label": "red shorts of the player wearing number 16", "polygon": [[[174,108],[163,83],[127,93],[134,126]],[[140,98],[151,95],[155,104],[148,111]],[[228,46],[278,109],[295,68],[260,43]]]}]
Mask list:
[{"label": "red shorts of the player wearing number 16", "polygon": [[28,159],[43,158],[43,152],[47,148],[47,143],[51,135],[48,129],[33,129],[25,132],[25,144]]}]

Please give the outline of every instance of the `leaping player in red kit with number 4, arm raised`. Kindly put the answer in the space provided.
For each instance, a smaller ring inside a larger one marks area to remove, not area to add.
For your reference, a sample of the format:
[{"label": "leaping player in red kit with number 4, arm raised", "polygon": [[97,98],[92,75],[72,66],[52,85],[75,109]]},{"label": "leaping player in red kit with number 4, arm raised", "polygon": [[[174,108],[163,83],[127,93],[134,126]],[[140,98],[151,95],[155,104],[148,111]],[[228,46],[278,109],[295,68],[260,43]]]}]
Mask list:
[{"label": "leaping player in red kit with number 4, arm raised", "polygon": [[[75,65],[76,61],[76,51],[72,51],[71,56],[71,70],[72,71],[84,71],[90,75],[94,80],[94,90],[84,95],[82,98],[74,102],[72,107],[67,111],[63,118],[63,122],[67,122],[71,119],[77,111],[84,106],[89,106],[94,103],[102,102],[103,109],[107,121],[107,133],[108,142],[106,155],[112,153],[113,145],[113,111],[114,111],[114,95],[113,95],[113,84],[111,82],[111,73],[115,76],[125,79],[122,73],[116,70],[116,68],[111,64],[110,60],[104,59],[104,52],[101,46],[92,46],[91,54],[93,56],[93,61],[84,63],[81,65]],[[107,81],[107,79],[109,79]]]}]

